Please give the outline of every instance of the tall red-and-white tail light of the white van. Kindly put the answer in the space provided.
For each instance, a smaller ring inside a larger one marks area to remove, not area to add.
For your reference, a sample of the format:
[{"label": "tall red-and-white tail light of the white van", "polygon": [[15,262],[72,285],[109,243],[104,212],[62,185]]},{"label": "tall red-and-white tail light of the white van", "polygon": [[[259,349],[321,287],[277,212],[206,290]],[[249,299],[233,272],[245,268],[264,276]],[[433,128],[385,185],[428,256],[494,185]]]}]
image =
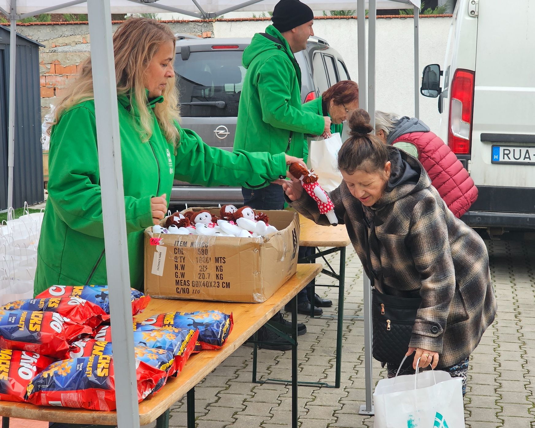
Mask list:
[{"label": "tall red-and-white tail light of the white van", "polygon": [[475,73],[455,70],[449,104],[448,146],[455,154],[469,154],[472,144]]}]

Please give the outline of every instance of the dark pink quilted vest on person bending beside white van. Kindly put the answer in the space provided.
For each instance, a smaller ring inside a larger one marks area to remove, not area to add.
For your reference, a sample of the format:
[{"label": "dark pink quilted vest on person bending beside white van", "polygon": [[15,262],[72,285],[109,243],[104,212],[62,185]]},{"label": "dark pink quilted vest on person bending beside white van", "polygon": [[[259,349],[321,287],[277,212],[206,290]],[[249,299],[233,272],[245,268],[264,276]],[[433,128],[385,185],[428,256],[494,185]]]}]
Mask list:
[{"label": "dark pink quilted vest on person bending beside white van", "polygon": [[468,171],[454,152],[433,132],[411,132],[396,138],[392,144],[407,141],[418,149],[431,184],[448,205],[455,217],[460,218],[477,199],[477,187]]}]

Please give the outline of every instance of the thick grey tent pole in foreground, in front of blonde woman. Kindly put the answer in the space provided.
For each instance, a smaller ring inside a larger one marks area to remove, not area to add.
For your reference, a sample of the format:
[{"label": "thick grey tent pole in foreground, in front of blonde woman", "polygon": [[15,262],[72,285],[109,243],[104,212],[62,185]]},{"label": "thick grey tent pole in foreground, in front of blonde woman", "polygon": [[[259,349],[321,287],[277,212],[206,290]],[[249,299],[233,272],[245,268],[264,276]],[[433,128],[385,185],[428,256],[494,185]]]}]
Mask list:
[{"label": "thick grey tent pole in foreground, in front of blonde woman", "polygon": [[[119,428],[139,428],[110,0],[87,2]],[[96,55],[98,52],[98,55]]]}]

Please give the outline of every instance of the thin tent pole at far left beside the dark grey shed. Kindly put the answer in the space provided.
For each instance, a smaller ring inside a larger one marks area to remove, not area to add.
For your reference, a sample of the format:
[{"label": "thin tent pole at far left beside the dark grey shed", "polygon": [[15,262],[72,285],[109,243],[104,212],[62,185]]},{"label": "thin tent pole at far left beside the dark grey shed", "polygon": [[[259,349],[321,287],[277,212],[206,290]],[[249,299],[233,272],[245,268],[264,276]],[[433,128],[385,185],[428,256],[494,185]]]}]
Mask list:
[{"label": "thin tent pole at far left beside the dark grey shed", "polygon": [[13,167],[15,165],[15,72],[17,67],[17,0],[11,0],[9,45],[9,119],[7,125],[7,208],[13,207]]}]

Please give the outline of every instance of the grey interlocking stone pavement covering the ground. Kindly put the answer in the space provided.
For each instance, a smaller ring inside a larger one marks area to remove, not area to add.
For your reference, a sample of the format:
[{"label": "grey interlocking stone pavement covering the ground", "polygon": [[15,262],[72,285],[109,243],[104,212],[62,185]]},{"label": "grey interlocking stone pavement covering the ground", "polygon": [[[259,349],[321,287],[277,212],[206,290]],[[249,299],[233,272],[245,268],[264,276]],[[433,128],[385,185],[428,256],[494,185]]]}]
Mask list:
[{"label": "grey interlocking stone pavement covering the ground", "polygon": [[[466,426],[471,428],[535,427],[535,243],[487,241],[498,316],[470,358],[465,398]],[[327,260],[337,265],[337,255]],[[320,284],[331,283],[319,277]],[[337,311],[338,290],[318,287],[332,299],[325,314]],[[345,315],[362,315],[362,265],[348,247]],[[334,383],[336,321],[310,319],[299,339],[299,380]],[[372,427],[373,417],[358,415],[365,402],[362,319],[343,325],[342,384],[339,389],[299,387],[303,428]],[[289,379],[291,351],[258,351],[259,377]],[[195,388],[198,428],[281,428],[291,425],[291,387],[252,384],[251,348],[240,347]],[[375,363],[375,380],[385,376]],[[186,400],[171,409],[172,427],[186,426]],[[453,428],[453,427],[452,427]]]}]

